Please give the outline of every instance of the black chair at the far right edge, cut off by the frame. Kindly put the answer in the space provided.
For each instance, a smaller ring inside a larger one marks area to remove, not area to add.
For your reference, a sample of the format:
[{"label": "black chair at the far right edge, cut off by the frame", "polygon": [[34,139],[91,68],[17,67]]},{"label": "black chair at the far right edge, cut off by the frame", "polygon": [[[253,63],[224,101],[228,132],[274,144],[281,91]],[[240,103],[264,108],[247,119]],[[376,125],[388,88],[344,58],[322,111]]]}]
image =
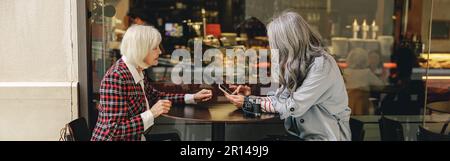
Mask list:
[{"label": "black chair at the far right edge, cut off by the frame", "polygon": [[435,133],[427,130],[426,128],[419,126],[419,131],[417,132],[418,141],[450,141],[450,133],[445,134],[447,130],[449,121],[444,124],[440,133]]}]

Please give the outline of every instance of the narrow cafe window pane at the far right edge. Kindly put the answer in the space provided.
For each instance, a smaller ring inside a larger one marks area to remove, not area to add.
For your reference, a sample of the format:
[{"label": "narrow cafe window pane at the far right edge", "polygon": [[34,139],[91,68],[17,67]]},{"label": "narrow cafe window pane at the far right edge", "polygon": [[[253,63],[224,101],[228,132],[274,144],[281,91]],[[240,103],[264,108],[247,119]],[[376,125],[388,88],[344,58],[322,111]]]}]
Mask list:
[{"label": "narrow cafe window pane at the far right edge", "polygon": [[[428,60],[421,63],[426,68],[422,76],[426,81],[426,104],[424,116],[434,118],[435,121],[424,121],[424,129],[438,135],[449,135],[445,129],[445,123],[450,120],[450,16],[445,8],[450,6],[449,1],[434,0],[431,5],[429,21],[431,22],[428,41],[422,59]],[[444,45],[445,44],[445,45]]]}]

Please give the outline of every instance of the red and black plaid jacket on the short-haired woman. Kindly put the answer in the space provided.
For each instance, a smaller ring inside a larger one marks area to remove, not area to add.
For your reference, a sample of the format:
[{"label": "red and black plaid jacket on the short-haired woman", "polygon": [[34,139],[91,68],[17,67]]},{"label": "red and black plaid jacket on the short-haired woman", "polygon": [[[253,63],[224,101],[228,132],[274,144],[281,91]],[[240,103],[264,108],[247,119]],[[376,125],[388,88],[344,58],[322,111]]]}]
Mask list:
[{"label": "red and black plaid jacket on the short-haired woman", "polygon": [[[184,94],[163,93],[154,89],[144,77],[145,94],[150,107],[159,99],[184,103]],[[146,111],[140,84],[122,59],[106,72],[100,85],[99,115],[92,141],[140,141],[144,133],[141,113]]]}]

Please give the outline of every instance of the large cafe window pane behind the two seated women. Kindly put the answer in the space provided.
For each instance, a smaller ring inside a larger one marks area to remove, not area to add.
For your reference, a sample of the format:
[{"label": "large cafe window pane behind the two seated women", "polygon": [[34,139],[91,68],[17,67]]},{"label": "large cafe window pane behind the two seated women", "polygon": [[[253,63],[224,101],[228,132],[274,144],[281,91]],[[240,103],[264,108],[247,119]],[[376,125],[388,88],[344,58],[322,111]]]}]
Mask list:
[{"label": "large cafe window pane behind the two seated women", "polygon": [[[98,100],[99,84],[105,72],[121,57],[121,39],[133,23],[127,13],[136,7],[145,9],[147,23],[163,36],[159,65],[146,73],[155,88],[165,92],[192,93],[202,87],[221,95],[215,86],[171,82],[175,65],[171,53],[176,49],[192,53],[196,40],[203,42],[203,50],[269,49],[265,25],[277,13],[290,10],[298,12],[321,34],[338,62],[346,82],[352,118],[378,125],[378,119],[386,116],[405,126],[405,140],[416,140],[418,126],[433,119],[432,113],[443,113],[428,108],[430,103],[448,102],[450,98],[450,16],[444,13],[450,4],[444,0],[88,2],[94,102]],[[431,15],[432,24],[427,19]],[[265,84],[252,87],[258,91],[261,86]],[[223,100],[220,96],[214,98],[218,102]],[[185,125],[183,122],[175,128],[186,130]],[[196,140],[183,135],[185,140]],[[378,140],[380,135],[366,136],[365,140]]]}]

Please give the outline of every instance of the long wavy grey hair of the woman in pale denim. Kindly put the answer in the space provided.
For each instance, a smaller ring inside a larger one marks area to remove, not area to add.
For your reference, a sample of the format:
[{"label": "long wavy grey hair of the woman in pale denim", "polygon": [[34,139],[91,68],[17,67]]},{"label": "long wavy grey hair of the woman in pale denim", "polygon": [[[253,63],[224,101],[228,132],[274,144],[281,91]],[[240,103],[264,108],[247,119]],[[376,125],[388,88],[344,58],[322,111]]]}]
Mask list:
[{"label": "long wavy grey hair of the woman in pale denim", "polygon": [[[278,49],[280,92],[293,93],[306,78],[314,58],[327,51],[321,36],[295,12],[283,12],[267,25],[269,45]],[[281,93],[278,93],[281,94]]]}]

